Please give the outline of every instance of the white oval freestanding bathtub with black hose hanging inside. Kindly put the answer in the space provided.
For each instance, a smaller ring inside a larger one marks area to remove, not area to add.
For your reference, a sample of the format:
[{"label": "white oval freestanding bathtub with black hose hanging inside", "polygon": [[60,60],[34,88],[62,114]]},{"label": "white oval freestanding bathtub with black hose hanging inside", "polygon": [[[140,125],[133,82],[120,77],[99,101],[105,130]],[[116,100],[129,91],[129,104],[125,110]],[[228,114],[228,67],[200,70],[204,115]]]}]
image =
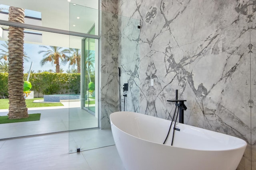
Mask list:
[{"label": "white oval freestanding bathtub with black hose hanging inside", "polygon": [[247,145],[237,137],[178,122],[173,146],[173,127],[163,145],[169,120],[119,111],[110,114],[110,121],[126,170],[236,170]]}]

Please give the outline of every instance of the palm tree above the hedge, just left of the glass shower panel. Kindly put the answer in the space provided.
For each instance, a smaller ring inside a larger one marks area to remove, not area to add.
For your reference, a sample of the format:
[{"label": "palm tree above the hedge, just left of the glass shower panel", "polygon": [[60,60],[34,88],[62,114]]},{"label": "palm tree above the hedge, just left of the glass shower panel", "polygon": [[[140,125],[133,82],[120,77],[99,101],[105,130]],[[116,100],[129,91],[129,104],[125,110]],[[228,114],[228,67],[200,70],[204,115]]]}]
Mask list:
[{"label": "palm tree above the hedge, just left of the glass shower panel", "polygon": [[51,62],[56,64],[56,72],[60,72],[60,59],[63,61],[66,57],[66,53],[68,53],[68,49],[62,49],[62,47],[56,46],[43,46],[40,47],[46,49],[46,51],[39,51],[38,54],[44,53],[43,59],[40,64],[43,66],[46,62]]}]

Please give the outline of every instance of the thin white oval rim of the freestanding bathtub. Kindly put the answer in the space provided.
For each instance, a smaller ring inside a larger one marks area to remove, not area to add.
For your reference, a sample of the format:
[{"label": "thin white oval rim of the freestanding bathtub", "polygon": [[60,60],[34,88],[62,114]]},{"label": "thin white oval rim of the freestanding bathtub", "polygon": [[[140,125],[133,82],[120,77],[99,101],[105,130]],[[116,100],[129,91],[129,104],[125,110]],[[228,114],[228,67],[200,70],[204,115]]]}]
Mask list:
[{"label": "thin white oval rim of the freestanding bathtub", "polygon": [[[116,111],[116,112],[113,112],[113,113],[115,113],[115,114],[122,114],[122,113],[132,113],[132,114],[134,114],[134,113],[136,113],[136,112],[132,112],[132,111]],[[120,130],[120,131],[122,131],[120,128],[118,128],[116,125],[114,125],[114,123],[112,122],[112,120],[111,120],[111,115],[113,114],[113,113],[110,113],[110,126],[112,127],[112,125],[114,126],[114,127],[116,127],[118,130]],[[137,114],[141,114],[141,113],[137,113]],[[146,115],[146,114],[141,114],[141,115]],[[146,115],[146,116],[151,116],[151,115]],[[154,116],[151,116],[151,117],[154,117]],[[154,117],[154,118],[158,118],[158,119],[162,119],[162,118],[160,118],[160,117]],[[164,120],[167,120],[167,119],[164,119]],[[168,120],[168,121],[170,121],[170,120]],[[177,122],[178,123],[178,122]],[[181,123],[179,123],[179,124],[181,124]],[[189,127],[196,127],[196,126],[192,126],[192,125],[187,125],[187,124],[183,124],[183,125],[186,125],[186,126],[189,126]],[[173,125],[172,125],[173,126]],[[203,128],[200,128],[200,127],[196,127],[196,128],[199,128],[199,129],[203,129]],[[211,130],[208,130],[208,129],[203,129],[203,130],[206,130],[206,131],[211,131]],[[126,133],[125,131],[122,131],[123,133]],[[214,132],[214,133],[218,133],[218,134],[221,134],[221,135],[227,135],[227,134],[224,134],[224,133],[220,133],[220,132],[216,132],[216,131],[211,131],[211,132]],[[171,146],[171,145],[166,145],[166,144],[162,144],[162,143],[156,143],[156,142],[154,142],[154,141],[148,141],[148,140],[146,140],[146,139],[142,139],[142,138],[139,138],[139,137],[136,137],[136,136],[134,136],[134,135],[131,135],[131,134],[129,134],[129,133],[126,133],[127,135],[129,135],[129,136],[132,136],[132,137],[135,137],[135,138],[137,138],[137,139],[140,139],[140,140],[143,140],[143,141],[147,141],[147,142],[150,142],[150,143],[155,143],[155,144],[158,144],[158,145],[164,145],[164,146],[167,146],[167,147],[175,147],[175,148],[179,148],[179,149],[188,149],[188,150],[197,150],[197,151],[206,151],[206,152],[209,152],[209,151],[215,151],[215,152],[220,152],[220,151],[230,151],[230,150],[238,150],[238,149],[242,149],[242,148],[246,148],[247,147],[247,142],[246,141],[244,141],[244,139],[240,139],[240,138],[238,138],[238,137],[234,137],[234,136],[231,136],[231,135],[228,135],[228,136],[230,136],[230,137],[232,137],[232,138],[236,138],[236,139],[238,139],[238,140],[241,140],[241,141],[243,141],[244,142],[244,145],[243,146],[240,146],[240,147],[237,147],[237,148],[233,148],[233,149],[222,149],[222,150],[206,150],[206,149],[190,149],[190,148],[186,148],[186,147],[176,147],[176,146]],[[166,134],[167,135],[167,134]]]}]

